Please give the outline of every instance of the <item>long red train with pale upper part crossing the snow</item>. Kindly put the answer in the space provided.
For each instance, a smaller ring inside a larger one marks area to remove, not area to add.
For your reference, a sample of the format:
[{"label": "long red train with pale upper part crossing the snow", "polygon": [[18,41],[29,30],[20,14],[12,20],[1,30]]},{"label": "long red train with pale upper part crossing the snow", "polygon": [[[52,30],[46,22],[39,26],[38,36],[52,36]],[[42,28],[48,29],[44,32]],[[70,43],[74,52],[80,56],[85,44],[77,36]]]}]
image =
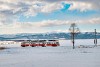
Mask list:
[{"label": "long red train with pale upper part crossing the snow", "polygon": [[27,47],[27,46],[31,46],[31,47],[36,47],[36,46],[42,46],[42,47],[46,47],[46,46],[60,46],[59,41],[58,40],[30,40],[30,41],[23,41],[21,43],[22,47]]}]

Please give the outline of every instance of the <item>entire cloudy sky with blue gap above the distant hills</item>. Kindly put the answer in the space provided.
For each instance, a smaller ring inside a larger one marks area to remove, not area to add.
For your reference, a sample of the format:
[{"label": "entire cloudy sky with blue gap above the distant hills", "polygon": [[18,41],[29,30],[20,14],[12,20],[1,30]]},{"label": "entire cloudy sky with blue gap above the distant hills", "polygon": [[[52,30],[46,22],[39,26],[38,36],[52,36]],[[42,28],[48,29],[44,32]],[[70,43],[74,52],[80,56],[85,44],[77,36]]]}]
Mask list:
[{"label": "entire cloudy sky with blue gap above the distant hills", "polygon": [[0,0],[0,34],[100,32],[99,0]]}]

